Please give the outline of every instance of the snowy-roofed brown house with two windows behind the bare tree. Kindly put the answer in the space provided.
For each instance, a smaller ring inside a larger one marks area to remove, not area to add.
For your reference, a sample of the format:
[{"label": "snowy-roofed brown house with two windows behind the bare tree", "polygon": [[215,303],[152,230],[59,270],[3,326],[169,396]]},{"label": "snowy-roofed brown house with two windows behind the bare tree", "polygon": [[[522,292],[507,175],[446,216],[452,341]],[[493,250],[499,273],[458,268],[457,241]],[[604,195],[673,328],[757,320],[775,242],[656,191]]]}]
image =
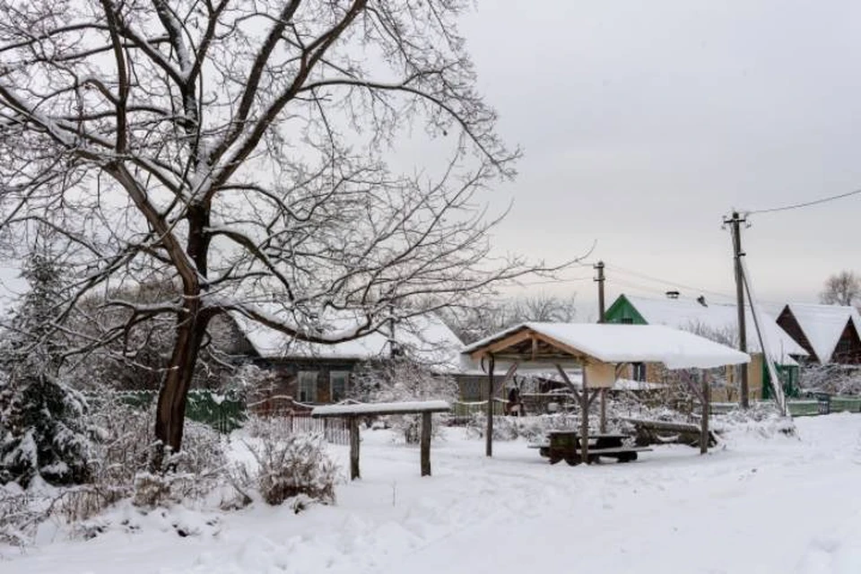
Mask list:
[{"label": "snowy-roofed brown house with two windows behind the bare tree", "polygon": [[396,324],[392,334],[370,333],[338,344],[309,344],[232,315],[252,352],[248,358],[269,370],[273,393],[303,404],[336,403],[347,396],[353,373],[364,361],[391,356],[393,349],[449,376],[460,374],[463,347],[438,317],[413,317]]}]

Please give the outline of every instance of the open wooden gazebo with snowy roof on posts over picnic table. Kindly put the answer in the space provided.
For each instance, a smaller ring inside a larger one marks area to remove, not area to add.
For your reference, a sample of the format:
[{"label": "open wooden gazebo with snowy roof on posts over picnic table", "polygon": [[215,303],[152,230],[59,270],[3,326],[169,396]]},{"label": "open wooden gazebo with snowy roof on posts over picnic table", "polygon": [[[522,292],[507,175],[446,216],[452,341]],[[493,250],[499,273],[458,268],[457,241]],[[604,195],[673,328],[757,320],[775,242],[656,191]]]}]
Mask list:
[{"label": "open wooden gazebo with snowy roof on posts over picnic table", "polygon": [[[486,454],[493,455],[492,397],[517,370],[557,370],[578,399],[581,451],[588,461],[589,405],[601,396],[601,426],[604,429],[606,389],[613,386],[617,368],[631,362],[659,362],[668,369],[712,369],[750,362],[744,352],[709,341],[686,331],[656,325],[606,325],[588,323],[524,323],[468,345],[465,359],[482,365],[488,375]],[[582,369],[578,390],[566,370]],[[494,372],[506,369],[494,384]],[[708,436],[709,387],[694,388],[702,401],[702,426]],[[701,442],[700,448],[705,443]]]}]

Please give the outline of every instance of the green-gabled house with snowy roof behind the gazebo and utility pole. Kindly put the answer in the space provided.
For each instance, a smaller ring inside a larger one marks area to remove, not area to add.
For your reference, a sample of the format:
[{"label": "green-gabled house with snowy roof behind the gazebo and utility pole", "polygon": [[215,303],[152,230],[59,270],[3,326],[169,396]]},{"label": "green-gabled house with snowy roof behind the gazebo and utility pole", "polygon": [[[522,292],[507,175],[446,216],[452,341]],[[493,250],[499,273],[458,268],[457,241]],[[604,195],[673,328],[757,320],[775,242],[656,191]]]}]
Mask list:
[{"label": "green-gabled house with snowy roof behind the gazebo and utility pole", "polygon": [[[737,346],[736,309],[735,305],[709,303],[703,298],[683,299],[677,294],[667,299],[620,295],[606,310],[605,317],[608,323],[673,326],[716,340],[718,343]],[[769,354],[777,363],[779,377],[783,379],[787,394],[795,395],[798,381],[796,359],[806,357],[808,351],[778,326],[778,322],[773,317],[763,313],[762,318],[765,322],[764,332],[769,345]],[[770,376],[763,361],[762,347],[750,309],[746,310],[746,319],[747,349],[752,359],[747,366],[750,396],[768,397],[771,395]],[[629,376],[635,380],[660,382],[659,370],[652,365],[634,365]],[[735,385],[735,370],[727,370],[726,379],[728,384]]]}]

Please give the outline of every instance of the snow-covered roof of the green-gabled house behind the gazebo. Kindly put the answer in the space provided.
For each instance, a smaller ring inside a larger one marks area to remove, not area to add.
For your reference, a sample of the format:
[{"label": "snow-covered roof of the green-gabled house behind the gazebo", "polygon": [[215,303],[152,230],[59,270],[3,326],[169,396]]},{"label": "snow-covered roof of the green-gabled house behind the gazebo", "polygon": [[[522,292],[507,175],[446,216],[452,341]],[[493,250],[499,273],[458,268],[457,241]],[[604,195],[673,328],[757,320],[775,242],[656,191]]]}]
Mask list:
[{"label": "snow-covered roof of the green-gabled house behind the gazebo", "polygon": [[[708,303],[708,306],[704,306],[690,299],[650,299],[631,295],[624,297],[649,325],[673,326],[695,333],[698,328],[704,327],[716,335],[726,335],[735,341],[738,339],[738,311],[735,305]],[[747,349],[750,352],[762,352],[751,309],[745,309],[745,316]],[[796,365],[796,361],[790,355],[807,356],[808,353],[804,351],[804,347],[797,344],[796,340],[778,325],[774,317],[767,313],[761,313],[761,317],[765,323],[765,338],[768,342],[769,354],[778,364]],[[710,334],[701,332],[700,335]]]}]

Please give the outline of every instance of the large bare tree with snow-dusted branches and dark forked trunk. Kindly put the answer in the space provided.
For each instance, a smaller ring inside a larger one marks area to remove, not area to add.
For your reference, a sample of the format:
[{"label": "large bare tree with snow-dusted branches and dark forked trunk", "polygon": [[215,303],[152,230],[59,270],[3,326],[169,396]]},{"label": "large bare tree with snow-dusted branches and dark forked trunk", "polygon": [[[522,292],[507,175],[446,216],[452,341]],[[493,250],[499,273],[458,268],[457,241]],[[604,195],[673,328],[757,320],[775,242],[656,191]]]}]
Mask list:
[{"label": "large bare tree with snow-dusted branches and dark forked trunk", "polygon": [[[220,313],[336,343],[530,271],[489,257],[496,220],[476,193],[518,153],[474,89],[466,5],[0,2],[7,255],[34,222],[65,237],[78,283],[58,321],[91,291],[178,284],[146,305],[108,301],[129,324],[173,323],[162,444],[180,447]],[[410,122],[448,145],[445,166],[387,167]],[[334,315],[352,323],[333,329]]]}]

